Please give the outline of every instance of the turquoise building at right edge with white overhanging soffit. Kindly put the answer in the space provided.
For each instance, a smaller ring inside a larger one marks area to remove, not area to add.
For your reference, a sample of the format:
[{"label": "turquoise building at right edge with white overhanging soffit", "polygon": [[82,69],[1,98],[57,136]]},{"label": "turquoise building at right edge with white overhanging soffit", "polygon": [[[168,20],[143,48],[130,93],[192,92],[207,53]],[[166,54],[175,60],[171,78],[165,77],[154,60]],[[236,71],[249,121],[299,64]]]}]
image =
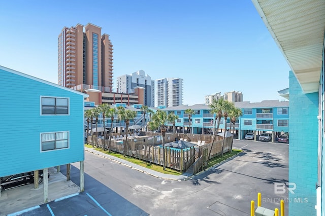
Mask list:
[{"label": "turquoise building at right edge with white overhanging soffit", "polygon": [[252,2],[291,68],[288,215],[325,215],[325,1]]}]

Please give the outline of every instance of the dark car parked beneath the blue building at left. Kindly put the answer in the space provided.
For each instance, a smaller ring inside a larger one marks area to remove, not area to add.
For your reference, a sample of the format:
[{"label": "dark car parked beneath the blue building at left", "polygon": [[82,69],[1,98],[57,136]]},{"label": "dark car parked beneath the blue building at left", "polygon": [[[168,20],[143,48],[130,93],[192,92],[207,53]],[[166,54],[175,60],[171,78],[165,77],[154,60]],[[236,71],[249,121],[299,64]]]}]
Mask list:
[{"label": "dark car parked beneath the blue building at left", "polygon": [[[49,172],[47,172],[47,175],[48,177],[50,177]],[[34,171],[1,177],[0,180],[1,180],[0,191],[21,186],[21,185],[27,185],[30,183],[34,183]],[[39,170],[38,183],[41,184],[42,182],[43,182],[43,170]]]}]

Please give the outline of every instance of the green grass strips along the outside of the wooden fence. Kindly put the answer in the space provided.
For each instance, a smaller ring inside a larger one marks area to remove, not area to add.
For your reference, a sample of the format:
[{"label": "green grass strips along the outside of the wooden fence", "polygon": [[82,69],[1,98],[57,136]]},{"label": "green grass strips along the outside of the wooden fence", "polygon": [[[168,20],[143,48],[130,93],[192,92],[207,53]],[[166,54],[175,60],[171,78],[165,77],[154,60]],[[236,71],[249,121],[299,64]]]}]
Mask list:
[{"label": "green grass strips along the outside of the wooden fence", "polygon": [[[129,156],[123,157],[123,155],[121,155],[119,153],[115,153],[115,152],[109,153],[108,151],[104,151],[102,148],[93,148],[91,145],[88,145],[88,144],[85,144],[85,147],[96,150],[96,151],[99,151],[99,152],[102,152],[102,153],[105,153],[107,155],[111,155],[111,156],[114,156],[114,157],[129,161],[131,163],[146,167],[148,169],[155,170],[155,171],[160,172],[160,173],[172,174],[172,175],[180,175],[181,174],[181,172],[170,169],[170,168],[167,168],[167,167],[166,167],[166,170],[164,170],[163,166],[160,166],[160,165],[157,165],[157,164],[150,164],[147,161],[143,161],[143,160],[133,158],[133,157],[129,157]],[[216,157],[216,158],[212,159],[209,162],[208,167],[214,166],[214,165],[216,165],[216,164],[218,164],[218,163],[220,163],[220,162],[222,162],[222,161],[224,161],[224,160],[226,160],[226,159],[228,159],[228,158],[230,158],[230,157],[232,157],[232,156],[234,156],[236,154],[239,154],[240,152],[242,152],[242,151],[241,150],[233,150],[232,153],[224,154],[222,158],[221,157]]]}]

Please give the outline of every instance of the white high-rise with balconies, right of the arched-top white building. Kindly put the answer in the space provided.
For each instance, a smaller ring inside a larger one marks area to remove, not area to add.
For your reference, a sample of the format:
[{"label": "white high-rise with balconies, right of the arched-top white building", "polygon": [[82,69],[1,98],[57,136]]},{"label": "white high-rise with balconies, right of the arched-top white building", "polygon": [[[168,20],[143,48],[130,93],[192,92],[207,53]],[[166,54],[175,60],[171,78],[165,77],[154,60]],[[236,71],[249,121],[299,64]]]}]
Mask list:
[{"label": "white high-rise with balconies, right of the arched-top white building", "polygon": [[163,78],[154,82],[155,107],[171,107],[183,104],[183,79]]}]

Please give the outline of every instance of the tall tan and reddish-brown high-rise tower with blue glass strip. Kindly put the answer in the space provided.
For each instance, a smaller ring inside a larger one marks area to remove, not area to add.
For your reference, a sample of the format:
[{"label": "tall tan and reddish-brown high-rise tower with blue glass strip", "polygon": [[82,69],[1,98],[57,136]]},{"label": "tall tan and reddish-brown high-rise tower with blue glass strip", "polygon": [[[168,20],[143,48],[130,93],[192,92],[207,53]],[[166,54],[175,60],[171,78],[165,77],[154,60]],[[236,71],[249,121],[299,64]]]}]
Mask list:
[{"label": "tall tan and reddish-brown high-rise tower with blue glass strip", "polygon": [[58,36],[59,85],[112,92],[113,45],[101,30],[91,23],[62,29]]}]

